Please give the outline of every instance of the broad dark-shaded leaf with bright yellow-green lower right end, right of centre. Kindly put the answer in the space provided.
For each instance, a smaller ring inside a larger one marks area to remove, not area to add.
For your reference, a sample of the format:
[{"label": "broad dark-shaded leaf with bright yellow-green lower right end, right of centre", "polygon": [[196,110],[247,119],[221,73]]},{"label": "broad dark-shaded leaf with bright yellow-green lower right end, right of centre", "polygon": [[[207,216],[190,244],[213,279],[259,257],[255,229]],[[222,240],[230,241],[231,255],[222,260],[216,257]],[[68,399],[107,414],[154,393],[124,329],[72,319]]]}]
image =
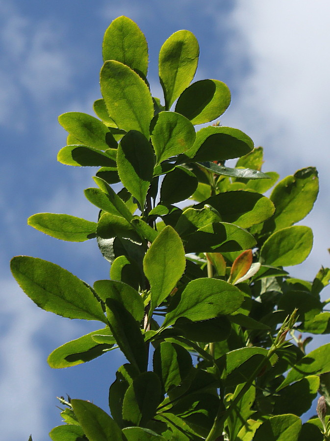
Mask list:
[{"label": "broad dark-shaded leaf with bright yellow-green lower right end, right of centre", "polygon": [[209,204],[217,210],[222,221],[250,228],[270,218],[275,211],[273,202],[266,196],[244,191],[220,193],[206,199],[194,208]]}]

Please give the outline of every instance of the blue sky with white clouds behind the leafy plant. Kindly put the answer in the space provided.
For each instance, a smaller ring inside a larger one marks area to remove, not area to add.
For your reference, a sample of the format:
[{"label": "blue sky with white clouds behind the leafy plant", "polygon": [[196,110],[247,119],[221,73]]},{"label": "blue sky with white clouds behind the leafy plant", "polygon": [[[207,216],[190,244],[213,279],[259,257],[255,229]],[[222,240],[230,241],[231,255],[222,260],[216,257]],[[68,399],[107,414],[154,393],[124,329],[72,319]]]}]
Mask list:
[{"label": "blue sky with white clouds behind the leafy plant", "polygon": [[[48,354],[98,329],[38,309],[9,271],[14,255],[54,262],[87,283],[108,278],[95,241],[57,241],[26,225],[34,213],[97,219],[83,196],[93,169],[67,167],[56,155],[66,135],[58,115],[93,114],[101,98],[102,37],[126,15],[145,33],[149,81],[161,95],[157,60],[163,42],[192,31],[201,56],[195,80],[228,84],[232,103],[222,125],[239,128],[265,152],[264,171],[281,178],[307,166],[320,174],[320,194],[303,224],[314,248],[291,273],[312,280],[330,266],[330,3],[326,0],[0,0],[0,427],[4,440],[49,439],[61,424],[56,395],[93,400],[106,409],[116,368],[114,351],[76,368],[53,370]],[[330,292],[325,290],[325,296]],[[329,337],[322,337],[327,343]]]}]

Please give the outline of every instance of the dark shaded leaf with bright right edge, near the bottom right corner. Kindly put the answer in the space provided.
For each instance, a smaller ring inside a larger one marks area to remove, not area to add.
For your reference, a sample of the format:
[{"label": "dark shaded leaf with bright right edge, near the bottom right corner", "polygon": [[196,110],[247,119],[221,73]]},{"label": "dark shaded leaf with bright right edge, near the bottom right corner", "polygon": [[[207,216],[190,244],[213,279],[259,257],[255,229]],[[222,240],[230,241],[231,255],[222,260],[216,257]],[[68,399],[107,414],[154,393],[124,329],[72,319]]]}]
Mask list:
[{"label": "dark shaded leaf with bright right edge, near the bottom right corner", "polygon": [[310,409],[319,388],[320,378],[310,375],[281,389],[275,395],[273,414],[294,414],[299,417]]}]

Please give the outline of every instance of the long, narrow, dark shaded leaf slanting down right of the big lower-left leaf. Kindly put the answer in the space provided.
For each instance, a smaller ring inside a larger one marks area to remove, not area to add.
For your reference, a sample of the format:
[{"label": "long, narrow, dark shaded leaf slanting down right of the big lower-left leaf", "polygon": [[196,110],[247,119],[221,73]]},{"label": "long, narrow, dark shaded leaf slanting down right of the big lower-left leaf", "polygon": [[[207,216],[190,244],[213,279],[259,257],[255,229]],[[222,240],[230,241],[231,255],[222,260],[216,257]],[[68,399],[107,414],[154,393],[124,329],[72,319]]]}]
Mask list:
[{"label": "long, narrow, dark shaded leaf slanting down right of the big lower-left leaf", "polygon": [[140,372],[147,370],[147,351],[139,324],[122,302],[107,298],[106,306],[109,326],[121,351]]}]

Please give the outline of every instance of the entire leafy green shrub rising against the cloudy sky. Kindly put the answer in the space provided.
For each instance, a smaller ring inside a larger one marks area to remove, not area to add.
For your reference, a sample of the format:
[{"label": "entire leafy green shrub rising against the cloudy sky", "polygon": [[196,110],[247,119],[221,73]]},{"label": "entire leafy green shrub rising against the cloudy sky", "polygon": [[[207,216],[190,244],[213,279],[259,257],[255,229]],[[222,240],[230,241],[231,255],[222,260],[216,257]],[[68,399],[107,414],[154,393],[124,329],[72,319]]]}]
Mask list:
[{"label": "entire leafy green shrub rising against the cloudy sky", "polygon": [[103,59],[96,116],[59,117],[68,137],[58,160],[98,168],[97,187],[85,190],[96,221],[39,213],[28,223],[64,241],[96,239],[110,278],[89,286],[27,256],[14,257],[11,270],[44,310],[102,323],[55,349],[52,368],[113,350],[127,363],[109,389],[111,416],[70,399],[51,439],[322,440],[318,420],[300,417],[318,390],[329,401],[329,344],[307,354],[310,338],[299,334],[330,332],[320,297],[330,270],[308,282],[283,269],[311,251],[311,229],[295,224],[316,200],[317,171],[278,182],[242,131],[219,123],[196,131],[226,111],[230,92],[218,80],[192,82],[191,32],[160,49],[163,104],[148,83],[145,36],[127,17],[106,30]]}]

